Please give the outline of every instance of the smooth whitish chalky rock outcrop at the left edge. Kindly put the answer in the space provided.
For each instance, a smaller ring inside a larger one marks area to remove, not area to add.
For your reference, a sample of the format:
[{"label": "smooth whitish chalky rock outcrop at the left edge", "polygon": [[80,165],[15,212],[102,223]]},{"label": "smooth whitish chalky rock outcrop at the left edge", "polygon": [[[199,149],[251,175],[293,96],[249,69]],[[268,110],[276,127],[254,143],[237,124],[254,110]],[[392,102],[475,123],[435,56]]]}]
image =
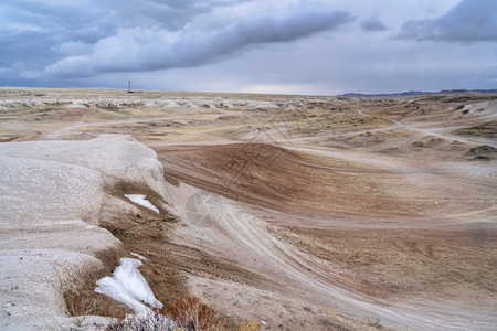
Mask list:
[{"label": "smooth whitish chalky rock outcrop at the left edge", "polygon": [[156,153],[131,137],[0,143],[1,330],[67,323],[61,282],[120,245],[98,226],[117,182],[166,194]]}]

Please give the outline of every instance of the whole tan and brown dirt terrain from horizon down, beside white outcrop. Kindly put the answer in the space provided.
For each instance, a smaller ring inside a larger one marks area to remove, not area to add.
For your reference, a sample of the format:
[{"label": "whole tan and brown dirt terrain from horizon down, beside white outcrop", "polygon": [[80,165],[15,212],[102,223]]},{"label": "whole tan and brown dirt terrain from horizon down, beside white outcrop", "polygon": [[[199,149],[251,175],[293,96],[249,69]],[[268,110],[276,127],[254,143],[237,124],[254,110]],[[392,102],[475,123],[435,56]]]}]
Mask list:
[{"label": "whole tan and brown dirt terrain from horizon down, beside white outcrop", "polygon": [[103,226],[152,260],[159,300],[194,295],[276,330],[493,330],[496,120],[491,96],[0,100],[3,141],[112,132],[154,148],[176,221]]}]

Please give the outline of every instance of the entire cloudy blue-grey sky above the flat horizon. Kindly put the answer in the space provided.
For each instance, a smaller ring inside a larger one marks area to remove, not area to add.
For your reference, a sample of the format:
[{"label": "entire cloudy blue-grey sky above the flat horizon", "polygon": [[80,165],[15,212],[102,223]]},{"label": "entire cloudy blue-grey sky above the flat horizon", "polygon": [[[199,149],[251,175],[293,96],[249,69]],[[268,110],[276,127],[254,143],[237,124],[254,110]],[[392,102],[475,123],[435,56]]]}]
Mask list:
[{"label": "entire cloudy blue-grey sky above the flat horizon", "polygon": [[2,0],[0,86],[497,88],[496,0]]}]

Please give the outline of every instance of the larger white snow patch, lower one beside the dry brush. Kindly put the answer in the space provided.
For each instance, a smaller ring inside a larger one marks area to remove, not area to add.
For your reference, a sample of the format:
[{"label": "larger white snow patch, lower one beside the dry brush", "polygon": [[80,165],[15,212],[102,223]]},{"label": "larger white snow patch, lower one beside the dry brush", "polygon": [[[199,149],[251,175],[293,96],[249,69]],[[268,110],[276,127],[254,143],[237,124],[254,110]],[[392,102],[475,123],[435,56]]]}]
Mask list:
[{"label": "larger white snow patch, lower one beside the dry brush", "polygon": [[95,291],[127,305],[140,316],[151,312],[142,302],[154,308],[162,308],[162,303],[156,299],[147,280],[138,270],[139,266],[141,261],[138,259],[121,258],[120,266],[114,270],[113,277],[99,279]]}]

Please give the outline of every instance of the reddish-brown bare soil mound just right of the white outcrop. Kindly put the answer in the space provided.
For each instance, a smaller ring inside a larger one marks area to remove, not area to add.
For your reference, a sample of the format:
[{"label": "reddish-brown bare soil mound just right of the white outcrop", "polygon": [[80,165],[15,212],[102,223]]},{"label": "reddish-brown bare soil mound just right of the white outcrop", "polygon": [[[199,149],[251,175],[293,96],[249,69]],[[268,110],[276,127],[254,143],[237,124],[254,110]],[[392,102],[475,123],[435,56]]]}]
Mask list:
[{"label": "reddish-brown bare soil mound just right of the white outcrop", "polygon": [[[240,202],[297,215],[384,214],[395,200],[371,174],[358,168],[263,143],[156,147],[168,177]],[[395,209],[392,215],[405,214]]]}]

